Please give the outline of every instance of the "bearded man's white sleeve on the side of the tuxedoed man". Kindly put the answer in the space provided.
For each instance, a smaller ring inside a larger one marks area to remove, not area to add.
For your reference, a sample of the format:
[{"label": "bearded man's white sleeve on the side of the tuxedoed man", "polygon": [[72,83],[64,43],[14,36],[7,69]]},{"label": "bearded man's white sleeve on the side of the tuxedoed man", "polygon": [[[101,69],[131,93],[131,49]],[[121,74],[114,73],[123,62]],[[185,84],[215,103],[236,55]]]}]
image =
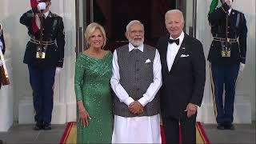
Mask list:
[{"label": "bearded man's white sleeve on the side of the tuxedoed man", "polygon": [[162,86],[162,66],[160,61],[160,54],[158,50],[155,51],[154,63],[153,63],[153,74],[154,79],[151,82],[150,86],[146,90],[146,93],[143,94],[143,97],[138,100],[142,106],[146,106],[147,103],[151,102],[154,99],[154,96],[158,93],[158,90]]}]

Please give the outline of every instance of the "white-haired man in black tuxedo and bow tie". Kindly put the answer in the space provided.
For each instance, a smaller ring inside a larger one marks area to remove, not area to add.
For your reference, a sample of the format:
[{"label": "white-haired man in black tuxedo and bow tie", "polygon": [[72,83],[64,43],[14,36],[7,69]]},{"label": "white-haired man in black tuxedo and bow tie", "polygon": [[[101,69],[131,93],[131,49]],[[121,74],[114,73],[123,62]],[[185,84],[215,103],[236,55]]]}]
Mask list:
[{"label": "white-haired man in black tuxedo and bow tie", "polygon": [[202,43],[183,32],[180,10],[165,15],[170,34],[158,40],[162,62],[161,114],[167,143],[196,142],[196,115],[201,106],[206,80],[206,60]]}]

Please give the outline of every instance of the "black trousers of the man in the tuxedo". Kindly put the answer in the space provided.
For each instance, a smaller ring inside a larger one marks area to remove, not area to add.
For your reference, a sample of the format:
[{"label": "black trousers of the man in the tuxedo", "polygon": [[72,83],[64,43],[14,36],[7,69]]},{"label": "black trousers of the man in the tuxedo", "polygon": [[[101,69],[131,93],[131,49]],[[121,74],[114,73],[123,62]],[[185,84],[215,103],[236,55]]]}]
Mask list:
[{"label": "black trousers of the man in the tuxedo", "polygon": [[179,143],[179,124],[181,126],[182,143],[196,143],[196,114],[187,118],[186,112],[181,117],[163,117],[163,127],[166,135],[166,143]]}]

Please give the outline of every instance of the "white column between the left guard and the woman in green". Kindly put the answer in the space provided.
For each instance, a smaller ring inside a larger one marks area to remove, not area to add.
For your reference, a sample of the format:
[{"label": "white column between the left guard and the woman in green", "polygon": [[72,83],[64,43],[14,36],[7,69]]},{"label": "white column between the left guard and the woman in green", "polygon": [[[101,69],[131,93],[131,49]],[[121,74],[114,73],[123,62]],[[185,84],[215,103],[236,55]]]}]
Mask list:
[{"label": "white column between the left guard and the woman in green", "polygon": [[55,77],[55,106],[52,123],[71,122],[76,120],[76,102],[74,94],[74,63],[76,59],[75,2],[64,0],[54,1],[52,3],[52,11],[63,18],[66,41],[63,69],[61,74]]}]

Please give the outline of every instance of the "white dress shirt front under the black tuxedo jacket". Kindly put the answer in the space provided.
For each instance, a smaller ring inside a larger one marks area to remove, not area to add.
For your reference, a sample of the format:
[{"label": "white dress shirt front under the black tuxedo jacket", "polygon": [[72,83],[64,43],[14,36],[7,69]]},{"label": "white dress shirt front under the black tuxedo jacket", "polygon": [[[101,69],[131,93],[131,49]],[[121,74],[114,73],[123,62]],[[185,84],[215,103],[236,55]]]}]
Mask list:
[{"label": "white dress shirt front under the black tuxedo jacket", "polygon": [[[183,31],[182,31],[182,34],[178,38],[179,38],[178,45],[175,42],[173,42],[171,44],[168,42],[167,53],[166,53],[166,62],[167,62],[169,71],[174,64],[174,59],[175,59],[176,55],[178,54],[178,50],[179,50],[180,46],[182,45],[182,42],[184,39]],[[178,38],[176,38],[176,39],[178,39]],[[174,39],[174,38],[172,38],[170,36],[170,39]]]}]

